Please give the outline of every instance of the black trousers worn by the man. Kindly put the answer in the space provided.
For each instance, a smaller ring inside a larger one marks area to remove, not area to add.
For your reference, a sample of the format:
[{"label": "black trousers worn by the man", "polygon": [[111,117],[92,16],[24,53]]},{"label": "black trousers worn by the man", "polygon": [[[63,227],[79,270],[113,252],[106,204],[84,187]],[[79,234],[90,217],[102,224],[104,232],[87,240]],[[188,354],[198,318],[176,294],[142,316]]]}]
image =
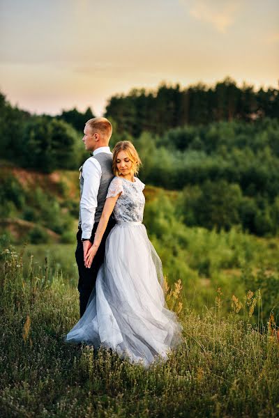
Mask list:
[{"label": "black trousers worn by the man", "polygon": [[[100,266],[103,264],[105,256],[105,240],[107,235],[109,235],[111,229],[115,225],[114,219],[110,219],[107,224],[107,229],[103,235],[103,238],[100,242],[100,247],[96,252],[96,256],[93,258],[91,268],[86,268],[84,265],[84,256],[83,256],[83,245],[82,245],[82,230],[77,231],[77,249],[75,250],[75,259],[77,261],[77,268],[79,271],[79,282],[78,282],[78,291],[80,292],[80,318],[84,314],[86,309],[87,302],[93,290],[93,287],[96,284],[97,274]],[[96,222],[92,229],[91,238],[94,237],[94,233],[98,227],[98,222]]]}]

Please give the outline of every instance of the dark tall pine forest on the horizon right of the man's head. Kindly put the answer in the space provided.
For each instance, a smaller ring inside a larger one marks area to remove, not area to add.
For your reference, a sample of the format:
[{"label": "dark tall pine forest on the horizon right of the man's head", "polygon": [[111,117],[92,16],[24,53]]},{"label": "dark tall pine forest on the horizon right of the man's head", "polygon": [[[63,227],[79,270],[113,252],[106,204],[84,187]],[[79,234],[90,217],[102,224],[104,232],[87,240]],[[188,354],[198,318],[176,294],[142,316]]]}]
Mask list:
[{"label": "dark tall pine forest on the horizon right of the man's head", "polygon": [[187,88],[161,84],[156,91],[133,89],[117,94],[107,103],[105,116],[116,121],[119,132],[139,137],[144,131],[163,134],[183,125],[206,125],[213,121],[246,121],[278,118],[278,89],[259,88],[226,77],[209,87],[199,83]]}]

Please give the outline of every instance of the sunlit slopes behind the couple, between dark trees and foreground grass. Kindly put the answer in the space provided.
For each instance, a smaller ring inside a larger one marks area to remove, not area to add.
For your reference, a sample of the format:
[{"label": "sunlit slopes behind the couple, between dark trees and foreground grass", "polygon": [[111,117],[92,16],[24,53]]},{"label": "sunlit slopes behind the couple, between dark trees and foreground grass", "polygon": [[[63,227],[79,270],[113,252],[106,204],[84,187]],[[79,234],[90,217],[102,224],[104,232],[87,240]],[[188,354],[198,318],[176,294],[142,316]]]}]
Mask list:
[{"label": "sunlit slopes behind the couple, between dark trees and foreground grass", "polygon": [[[79,172],[42,174],[1,164],[0,245],[15,245],[24,262],[45,258],[71,284],[77,282],[75,233],[79,210]],[[209,231],[188,227],[179,218],[179,192],[146,185],[144,224],[163,262],[169,284],[181,280],[183,304],[198,311],[213,306],[222,288],[229,311],[232,296],[262,290],[264,320],[278,313],[278,238],[259,238],[238,227]]]}]

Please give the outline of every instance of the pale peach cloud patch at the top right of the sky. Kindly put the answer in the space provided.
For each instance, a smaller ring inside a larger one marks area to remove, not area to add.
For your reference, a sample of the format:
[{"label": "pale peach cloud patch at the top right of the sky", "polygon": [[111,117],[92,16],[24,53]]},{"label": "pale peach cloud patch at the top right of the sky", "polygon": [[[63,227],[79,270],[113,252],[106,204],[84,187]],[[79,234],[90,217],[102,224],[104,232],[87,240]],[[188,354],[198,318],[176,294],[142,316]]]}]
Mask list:
[{"label": "pale peach cloud patch at the top right of the sky", "polygon": [[[187,0],[180,1],[186,5]],[[195,0],[190,1],[189,13],[195,19],[211,24],[218,32],[225,33],[234,24],[240,7],[240,0]]]}]

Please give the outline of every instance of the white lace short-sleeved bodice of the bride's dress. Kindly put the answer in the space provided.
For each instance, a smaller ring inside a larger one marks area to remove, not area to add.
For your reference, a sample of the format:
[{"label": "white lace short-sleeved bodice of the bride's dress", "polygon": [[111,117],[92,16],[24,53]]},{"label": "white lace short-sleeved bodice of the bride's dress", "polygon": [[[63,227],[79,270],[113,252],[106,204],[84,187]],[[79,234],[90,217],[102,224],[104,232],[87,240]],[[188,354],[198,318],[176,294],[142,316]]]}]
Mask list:
[{"label": "white lace short-sleeved bodice of the bride's dress", "polygon": [[114,177],[107,190],[107,197],[121,195],[114,206],[114,218],[116,221],[142,222],[144,217],[145,198],[142,190],[144,183],[139,178],[134,178],[135,183],[122,177]]}]

